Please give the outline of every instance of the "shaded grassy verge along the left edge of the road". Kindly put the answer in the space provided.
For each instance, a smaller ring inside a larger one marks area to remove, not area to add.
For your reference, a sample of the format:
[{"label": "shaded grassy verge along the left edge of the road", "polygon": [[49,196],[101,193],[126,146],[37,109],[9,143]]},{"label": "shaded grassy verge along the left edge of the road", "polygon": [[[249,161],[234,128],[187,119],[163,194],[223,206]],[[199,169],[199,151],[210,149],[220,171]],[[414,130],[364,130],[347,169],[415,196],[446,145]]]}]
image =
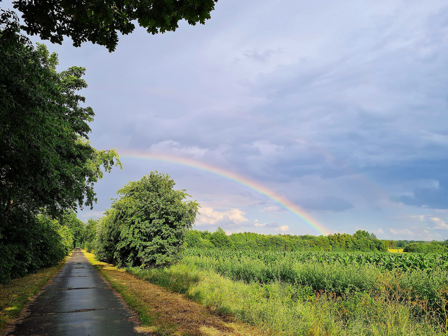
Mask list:
[{"label": "shaded grassy verge along the left edge of the road", "polygon": [[5,327],[20,316],[30,298],[56,275],[68,258],[69,255],[56,266],[43,268],[7,284],[0,284],[0,335],[3,335]]}]

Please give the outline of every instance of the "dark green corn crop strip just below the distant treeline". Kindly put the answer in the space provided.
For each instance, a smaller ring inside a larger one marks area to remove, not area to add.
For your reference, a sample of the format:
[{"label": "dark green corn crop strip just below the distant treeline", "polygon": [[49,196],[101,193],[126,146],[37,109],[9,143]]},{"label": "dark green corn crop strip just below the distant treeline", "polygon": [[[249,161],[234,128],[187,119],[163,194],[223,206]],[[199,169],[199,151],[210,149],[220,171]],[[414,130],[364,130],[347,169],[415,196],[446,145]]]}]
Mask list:
[{"label": "dark green corn crop strip just below the distant treeline", "polygon": [[344,252],[288,252],[257,250],[202,250],[187,249],[185,256],[224,260],[259,260],[263,263],[278,263],[289,259],[299,263],[327,263],[343,266],[375,266],[388,271],[428,270],[432,268],[448,269],[448,254],[411,254],[411,253],[344,253]]}]

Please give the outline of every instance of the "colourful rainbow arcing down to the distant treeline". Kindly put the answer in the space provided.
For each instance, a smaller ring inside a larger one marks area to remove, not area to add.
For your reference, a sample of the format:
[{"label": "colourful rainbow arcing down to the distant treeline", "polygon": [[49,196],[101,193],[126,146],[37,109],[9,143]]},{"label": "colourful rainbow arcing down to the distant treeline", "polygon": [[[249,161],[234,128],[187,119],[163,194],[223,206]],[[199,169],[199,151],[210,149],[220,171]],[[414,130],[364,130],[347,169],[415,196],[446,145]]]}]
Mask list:
[{"label": "colourful rainbow arcing down to the distant treeline", "polygon": [[[123,153],[123,152],[121,152],[121,153]],[[276,194],[272,190],[269,190],[264,185],[261,185],[254,181],[251,181],[247,177],[243,177],[234,172],[229,172],[227,170],[224,170],[224,169],[221,169],[218,167],[213,167],[213,166],[211,166],[209,164],[205,164],[203,162],[195,161],[192,159],[186,159],[186,158],[174,156],[174,155],[126,151],[125,155],[122,155],[122,157],[130,158],[130,159],[150,159],[150,160],[169,162],[172,164],[181,164],[183,166],[196,168],[196,169],[203,170],[206,172],[211,172],[212,174],[215,174],[215,175],[222,176],[228,180],[235,181],[241,185],[244,185],[244,186],[256,191],[259,194],[266,196],[267,198],[269,198],[272,201],[279,204],[281,207],[284,207],[285,209],[291,211],[294,215],[299,217],[301,220],[303,220],[306,224],[308,224],[311,228],[316,230],[318,233],[320,233],[324,236],[327,236],[328,234],[330,234],[329,231],[327,230],[327,228],[323,227],[322,224],[320,224],[317,220],[315,220],[310,215],[308,215],[300,207],[298,207],[297,205],[290,202],[288,199]]]}]

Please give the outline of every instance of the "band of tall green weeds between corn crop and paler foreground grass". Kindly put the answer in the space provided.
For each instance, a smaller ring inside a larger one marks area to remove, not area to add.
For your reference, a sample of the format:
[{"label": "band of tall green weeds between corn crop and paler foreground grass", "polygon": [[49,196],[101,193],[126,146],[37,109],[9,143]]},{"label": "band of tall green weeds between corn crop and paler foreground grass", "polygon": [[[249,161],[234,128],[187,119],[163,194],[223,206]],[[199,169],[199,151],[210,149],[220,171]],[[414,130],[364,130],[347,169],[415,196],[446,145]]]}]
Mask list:
[{"label": "band of tall green weeds between corn crop and paler foreground grass", "polygon": [[[212,251],[215,252],[215,251]],[[375,264],[347,263],[333,261],[297,260],[286,254],[284,258],[266,252],[254,255],[236,256],[234,251],[226,255],[218,253],[213,256],[186,255],[182,263],[212,270],[235,281],[248,284],[258,282],[269,284],[281,282],[297,288],[311,291],[326,291],[342,295],[356,292],[378,292],[384,284],[399,286],[406,290],[414,300],[427,300],[430,307],[442,309],[447,305],[448,269],[434,266],[427,269],[410,269],[409,271],[388,271]],[[260,258],[257,258],[257,257]],[[443,294],[445,293],[445,294]]]}]

